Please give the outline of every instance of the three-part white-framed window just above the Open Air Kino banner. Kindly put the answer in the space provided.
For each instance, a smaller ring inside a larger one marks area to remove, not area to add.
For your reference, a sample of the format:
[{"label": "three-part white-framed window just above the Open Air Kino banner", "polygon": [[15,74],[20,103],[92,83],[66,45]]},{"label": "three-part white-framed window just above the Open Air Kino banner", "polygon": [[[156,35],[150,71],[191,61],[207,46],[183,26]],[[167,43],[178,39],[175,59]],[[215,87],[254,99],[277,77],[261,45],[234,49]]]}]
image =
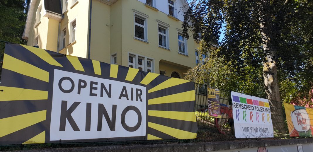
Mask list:
[{"label": "three-part white-framed window just above the Open Air Kino banner", "polygon": [[129,54],[128,67],[138,68],[139,70],[146,72],[154,72],[153,59],[141,55]]}]

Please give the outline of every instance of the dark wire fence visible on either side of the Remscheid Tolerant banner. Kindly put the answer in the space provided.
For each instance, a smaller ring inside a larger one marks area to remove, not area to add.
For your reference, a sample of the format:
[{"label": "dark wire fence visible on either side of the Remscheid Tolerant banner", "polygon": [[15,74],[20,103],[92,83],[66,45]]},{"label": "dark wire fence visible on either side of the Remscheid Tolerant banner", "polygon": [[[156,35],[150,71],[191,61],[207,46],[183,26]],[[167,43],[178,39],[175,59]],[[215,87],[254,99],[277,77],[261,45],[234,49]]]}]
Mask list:
[{"label": "dark wire fence visible on either side of the Remscheid Tolerant banner", "polygon": [[[229,116],[232,114],[230,91],[219,89],[221,118],[209,116],[207,93],[207,85],[195,83],[196,105],[194,110],[198,123],[198,135],[196,140],[235,139],[233,119]],[[269,104],[274,128],[274,138],[289,137],[285,110],[282,107],[282,103],[269,100]]]}]

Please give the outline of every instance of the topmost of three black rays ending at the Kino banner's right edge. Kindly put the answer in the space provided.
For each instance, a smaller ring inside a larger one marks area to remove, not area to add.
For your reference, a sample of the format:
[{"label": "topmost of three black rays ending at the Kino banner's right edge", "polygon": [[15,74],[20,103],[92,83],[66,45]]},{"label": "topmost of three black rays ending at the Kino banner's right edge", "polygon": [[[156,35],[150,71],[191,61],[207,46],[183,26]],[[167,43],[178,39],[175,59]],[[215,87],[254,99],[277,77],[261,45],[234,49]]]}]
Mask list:
[{"label": "topmost of three black rays ending at the Kino banner's right edge", "polygon": [[165,88],[162,90],[151,92],[151,93],[149,93],[149,97],[151,97],[151,99],[153,99],[153,98],[158,98],[158,97],[162,97],[165,95],[178,94],[178,93],[182,93],[182,92],[186,92],[186,91],[191,91],[191,90],[194,90],[193,85],[194,84],[192,82],[179,84],[176,86],[172,86],[169,88]]}]

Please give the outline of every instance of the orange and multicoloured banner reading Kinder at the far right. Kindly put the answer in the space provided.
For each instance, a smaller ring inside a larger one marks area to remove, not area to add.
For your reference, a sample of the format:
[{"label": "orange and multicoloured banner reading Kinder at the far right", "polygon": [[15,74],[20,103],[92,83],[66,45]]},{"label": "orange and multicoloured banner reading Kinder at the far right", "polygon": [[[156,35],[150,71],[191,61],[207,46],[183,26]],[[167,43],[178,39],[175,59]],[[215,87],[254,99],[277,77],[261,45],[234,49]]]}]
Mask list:
[{"label": "orange and multicoloured banner reading Kinder at the far right", "polygon": [[284,106],[290,137],[312,137],[313,109],[286,103]]}]

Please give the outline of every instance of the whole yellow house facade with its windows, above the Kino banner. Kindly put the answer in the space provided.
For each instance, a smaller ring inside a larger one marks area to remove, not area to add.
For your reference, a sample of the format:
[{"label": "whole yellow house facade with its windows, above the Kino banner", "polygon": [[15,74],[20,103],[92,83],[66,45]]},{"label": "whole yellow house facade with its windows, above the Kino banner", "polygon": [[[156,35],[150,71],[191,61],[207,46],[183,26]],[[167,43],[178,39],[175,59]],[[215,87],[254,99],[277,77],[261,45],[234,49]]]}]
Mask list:
[{"label": "whole yellow house facade with its windows, above the Kino banner", "polygon": [[188,7],[186,0],[31,0],[23,38],[29,46],[183,78],[199,62],[198,44],[182,37]]}]

